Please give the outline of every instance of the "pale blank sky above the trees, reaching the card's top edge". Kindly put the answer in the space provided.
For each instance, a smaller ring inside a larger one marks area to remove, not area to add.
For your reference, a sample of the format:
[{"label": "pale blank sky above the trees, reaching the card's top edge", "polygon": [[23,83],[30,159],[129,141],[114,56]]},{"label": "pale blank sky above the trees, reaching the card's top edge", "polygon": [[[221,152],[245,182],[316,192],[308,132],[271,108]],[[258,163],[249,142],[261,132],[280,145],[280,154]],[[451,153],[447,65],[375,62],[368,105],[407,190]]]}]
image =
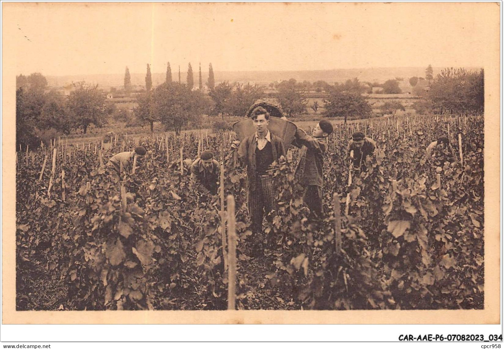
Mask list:
[{"label": "pale blank sky above the trees, reaching the card's top edge", "polygon": [[492,3],[2,5],[16,74],[484,67],[499,40]]}]

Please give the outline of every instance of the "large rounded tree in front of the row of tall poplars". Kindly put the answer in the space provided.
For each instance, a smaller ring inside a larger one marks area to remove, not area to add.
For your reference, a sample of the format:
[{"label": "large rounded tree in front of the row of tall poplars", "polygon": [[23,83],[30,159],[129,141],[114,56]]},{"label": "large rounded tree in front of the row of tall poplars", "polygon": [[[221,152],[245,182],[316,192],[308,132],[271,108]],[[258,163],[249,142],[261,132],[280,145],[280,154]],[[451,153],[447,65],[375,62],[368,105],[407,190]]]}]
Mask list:
[{"label": "large rounded tree in front of the row of tall poplars", "polygon": [[153,91],[152,111],[166,128],[179,135],[183,126],[201,118],[204,99],[200,91],[192,91],[186,85],[164,83]]}]

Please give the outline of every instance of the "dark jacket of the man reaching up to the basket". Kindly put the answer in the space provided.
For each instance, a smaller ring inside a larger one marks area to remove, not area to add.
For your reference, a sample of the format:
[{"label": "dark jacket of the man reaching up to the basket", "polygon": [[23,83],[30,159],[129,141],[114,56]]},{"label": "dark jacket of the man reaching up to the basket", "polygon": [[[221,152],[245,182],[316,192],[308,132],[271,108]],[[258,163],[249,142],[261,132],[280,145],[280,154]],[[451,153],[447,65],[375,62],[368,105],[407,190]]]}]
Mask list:
[{"label": "dark jacket of the man reaching up to the basket", "polygon": [[324,153],[327,150],[325,138],[310,137],[303,130],[297,129],[296,138],[292,144],[301,148],[296,177],[305,187],[322,187],[322,166],[324,165]]}]

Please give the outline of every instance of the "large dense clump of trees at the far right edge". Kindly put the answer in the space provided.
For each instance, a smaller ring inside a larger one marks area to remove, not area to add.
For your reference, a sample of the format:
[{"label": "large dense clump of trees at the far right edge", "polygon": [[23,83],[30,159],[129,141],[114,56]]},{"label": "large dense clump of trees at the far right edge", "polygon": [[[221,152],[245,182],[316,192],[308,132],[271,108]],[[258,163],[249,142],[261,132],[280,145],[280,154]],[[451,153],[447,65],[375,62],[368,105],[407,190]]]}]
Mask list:
[{"label": "large dense clump of trees at the far right edge", "polygon": [[426,98],[439,113],[482,113],[484,72],[444,69],[432,81]]}]

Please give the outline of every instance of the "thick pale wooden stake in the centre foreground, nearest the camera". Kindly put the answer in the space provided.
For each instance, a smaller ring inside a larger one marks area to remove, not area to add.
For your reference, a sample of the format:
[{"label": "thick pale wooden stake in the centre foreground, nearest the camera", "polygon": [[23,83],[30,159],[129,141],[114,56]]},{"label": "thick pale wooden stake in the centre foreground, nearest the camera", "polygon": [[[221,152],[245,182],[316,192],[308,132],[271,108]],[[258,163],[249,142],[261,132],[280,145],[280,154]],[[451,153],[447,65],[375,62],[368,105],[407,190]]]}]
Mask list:
[{"label": "thick pale wooden stake in the centre foreground, nearest the camera", "polygon": [[234,221],[234,197],[227,196],[227,244],[229,248],[227,310],[235,310],[236,301],[236,232]]}]

